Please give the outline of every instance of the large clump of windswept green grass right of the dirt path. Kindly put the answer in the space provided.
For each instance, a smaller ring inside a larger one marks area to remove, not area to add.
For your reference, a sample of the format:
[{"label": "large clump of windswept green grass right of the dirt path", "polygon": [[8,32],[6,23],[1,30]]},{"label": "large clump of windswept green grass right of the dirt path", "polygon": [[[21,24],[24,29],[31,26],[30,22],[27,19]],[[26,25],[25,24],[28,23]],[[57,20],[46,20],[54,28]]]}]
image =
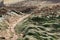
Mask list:
[{"label": "large clump of windswept green grass right of the dirt path", "polygon": [[40,14],[44,15],[40,17],[33,14],[21,25],[17,24],[15,27],[15,31],[19,35],[17,40],[58,40],[60,36],[60,9],[55,10],[54,7],[52,9],[41,8]]}]

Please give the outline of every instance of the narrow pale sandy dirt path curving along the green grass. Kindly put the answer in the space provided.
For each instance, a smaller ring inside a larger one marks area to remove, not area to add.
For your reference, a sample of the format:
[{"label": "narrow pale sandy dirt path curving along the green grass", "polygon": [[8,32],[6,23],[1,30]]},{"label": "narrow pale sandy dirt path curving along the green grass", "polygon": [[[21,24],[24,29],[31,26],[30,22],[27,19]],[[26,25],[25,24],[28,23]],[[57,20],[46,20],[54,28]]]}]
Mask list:
[{"label": "narrow pale sandy dirt path curving along the green grass", "polygon": [[11,27],[10,30],[14,33],[14,36],[13,36],[13,38],[11,40],[16,40],[18,38],[18,36],[16,35],[15,30],[14,30],[15,26],[17,25],[17,23],[23,21],[25,18],[29,17],[30,15],[31,14],[27,14],[27,15],[23,16],[22,18],[17,20],[17,22],[15,24],[12,24],[12,25],[9,26],[9,27]]}]

